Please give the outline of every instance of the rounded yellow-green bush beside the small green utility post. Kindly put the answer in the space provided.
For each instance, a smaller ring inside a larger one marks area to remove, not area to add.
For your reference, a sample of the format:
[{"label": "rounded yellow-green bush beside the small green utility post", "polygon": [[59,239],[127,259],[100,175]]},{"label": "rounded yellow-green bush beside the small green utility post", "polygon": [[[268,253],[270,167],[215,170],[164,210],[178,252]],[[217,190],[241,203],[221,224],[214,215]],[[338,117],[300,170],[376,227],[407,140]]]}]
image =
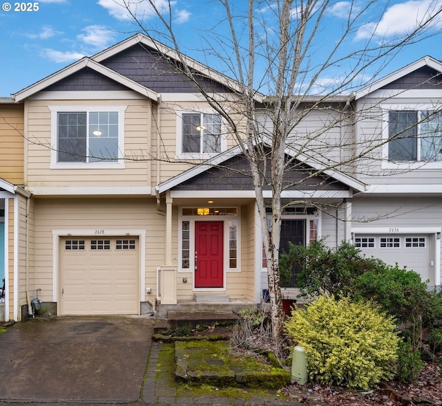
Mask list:
[{"label": "rounded yellow-green bush beside the small green utility post", "polygon": [[311,380],[368,389],[393,376],[396,325],[375,304],[320,296],[293,311],[285,327],[305,349]]}]

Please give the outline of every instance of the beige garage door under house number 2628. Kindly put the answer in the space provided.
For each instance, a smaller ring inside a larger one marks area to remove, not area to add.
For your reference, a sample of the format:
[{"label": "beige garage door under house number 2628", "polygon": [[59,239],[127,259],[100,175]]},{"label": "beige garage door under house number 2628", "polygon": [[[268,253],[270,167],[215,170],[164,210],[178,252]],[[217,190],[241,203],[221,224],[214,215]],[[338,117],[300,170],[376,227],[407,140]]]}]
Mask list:
[{"label": "beige garage door under house number 2628", "polygon": [[139,314],[139,250],[134,237],[61,238],[59,314]]}]

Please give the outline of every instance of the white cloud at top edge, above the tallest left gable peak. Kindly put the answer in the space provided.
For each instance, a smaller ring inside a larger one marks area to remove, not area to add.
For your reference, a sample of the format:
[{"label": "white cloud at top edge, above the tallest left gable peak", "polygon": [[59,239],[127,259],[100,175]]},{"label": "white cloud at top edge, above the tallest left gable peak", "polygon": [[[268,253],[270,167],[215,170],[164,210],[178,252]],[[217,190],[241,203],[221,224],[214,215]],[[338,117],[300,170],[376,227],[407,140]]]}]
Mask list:
[{"label": "white cloud at top edge, above the tallest left gable peak", "polygon": [[[160,12],[166,12],[169,10],[168,0],[154,0],[155,7]],[[176,1],[171,1],[171,6],[175,6]],[[140,0],[98,0],[99,6],[106,8],[108,13],[119,20],[132,19],[131,14],[128,12],[127,8],[131,11],[135,17],[138,19],[148,19],[155,15],[153,8],[148,1]],[[127,6],[127,8],[126,8]]]}]

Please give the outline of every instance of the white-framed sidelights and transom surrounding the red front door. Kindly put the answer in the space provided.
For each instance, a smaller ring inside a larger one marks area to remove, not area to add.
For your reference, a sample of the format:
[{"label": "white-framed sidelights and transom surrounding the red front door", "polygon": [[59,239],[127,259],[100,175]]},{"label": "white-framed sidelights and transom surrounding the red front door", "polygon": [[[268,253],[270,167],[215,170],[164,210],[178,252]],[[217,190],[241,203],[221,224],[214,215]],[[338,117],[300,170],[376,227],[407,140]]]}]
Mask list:
[{"label": "white-framed sidelights and transom surrounding the red front door", "polygon": [[190,272],[195,268],[195,221],[224,221],[224,269],[240,270],[240,222],[238,207],[181,207],[179,216],[180,239],[178,241],[178,272]]}]

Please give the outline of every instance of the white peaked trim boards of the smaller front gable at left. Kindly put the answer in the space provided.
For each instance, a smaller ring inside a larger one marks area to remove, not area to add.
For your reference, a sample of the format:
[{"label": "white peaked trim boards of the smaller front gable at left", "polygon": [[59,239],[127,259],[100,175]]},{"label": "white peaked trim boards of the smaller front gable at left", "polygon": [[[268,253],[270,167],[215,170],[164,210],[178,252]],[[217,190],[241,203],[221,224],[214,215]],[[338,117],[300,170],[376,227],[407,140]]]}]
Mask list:
[{"label": "white peaked trim boards of the smaller front gable at left", "polygon": [[35,84],[31,84],[30,86],[26,87],[26,89],[23,89],[15,94],[12,95],[12,98],[15,99],[16,102],[21,102],[22,100],[25,100],[26,98],[29,98],[30,96],[34,95],[35,93],[42,91],[46,89],[51,84],[55,84],[59,82],[60,80],[64,79],[65,77],[68,77],[69,75],[72,75],[73,73],[77,73],[78,71],[81,71],[83,68],[90,68],[93,69],[93,71],[97,73],[101,73],[102,75],[110,78],[111,80],[115,80],[115,82],[122,84],[126,86],[128,89],[131,89],[133,91],[136,91],[137,93],[140,93],[147,98],[150,98],[152,100],[158,99],[158,94],[154,91],[151,91],[150,89],[147,89],[146,87],[142,86],[141,84],[134,82],[133,80],[129,79],[128,77],[125,77],[123,75],[120,75],[119,73],[113,71],[112,69],[106,68],[106,66],[103,66],[102,64],[99,64],[98,62],[95,62],[95,60],[84,57],[82,59],[79,59],[79,61],[74,62],[73,64],[70,64],[69,66],[66,66],[66,68],[61,69],[61,71],[57,71],[55,73],[52,73],[52,75],[45,77],[44,79],[40,80],[39,82]]}]

